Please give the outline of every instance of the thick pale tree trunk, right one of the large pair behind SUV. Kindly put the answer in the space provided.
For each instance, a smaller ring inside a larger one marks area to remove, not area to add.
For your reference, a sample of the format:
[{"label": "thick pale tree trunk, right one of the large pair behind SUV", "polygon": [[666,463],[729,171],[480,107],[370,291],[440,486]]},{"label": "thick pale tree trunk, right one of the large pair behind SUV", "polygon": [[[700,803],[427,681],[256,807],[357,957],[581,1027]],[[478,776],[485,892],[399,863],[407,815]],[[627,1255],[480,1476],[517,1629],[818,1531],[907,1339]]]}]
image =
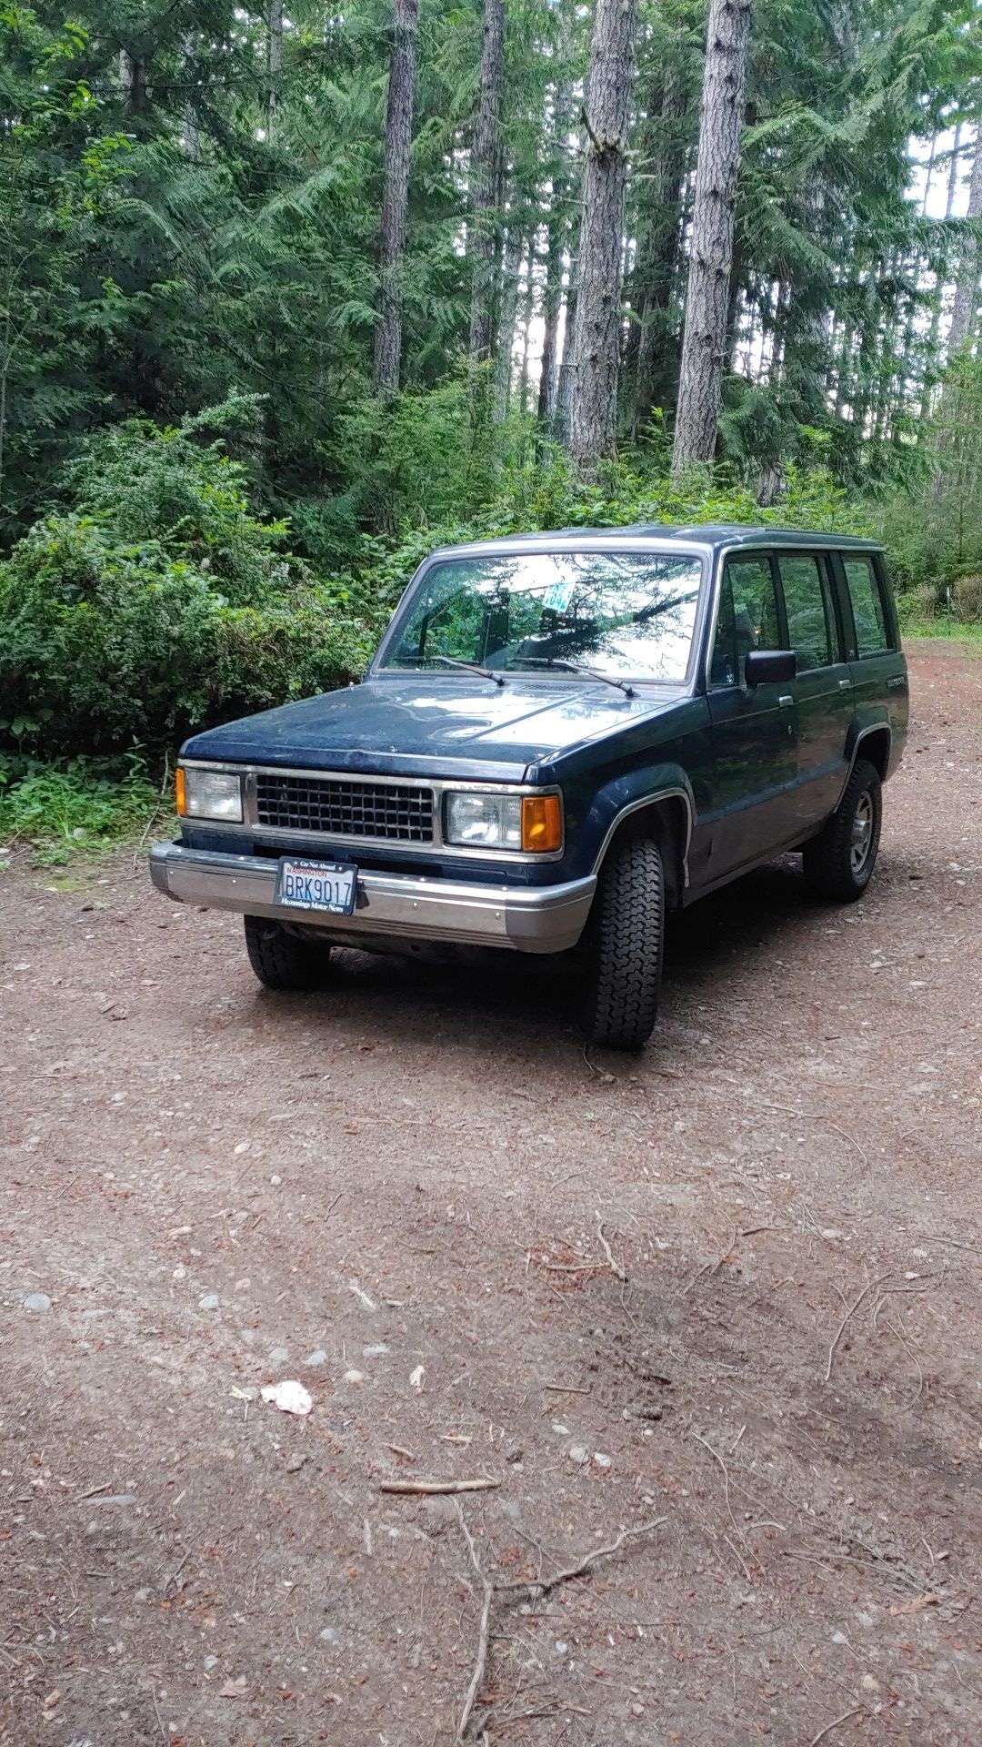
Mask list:
[{"label": "thick pale tree trunk, right one of the large pair behind SUV", "polygon": [[673,472],[711,461],[720,423],[751,0],[709,0]]}]

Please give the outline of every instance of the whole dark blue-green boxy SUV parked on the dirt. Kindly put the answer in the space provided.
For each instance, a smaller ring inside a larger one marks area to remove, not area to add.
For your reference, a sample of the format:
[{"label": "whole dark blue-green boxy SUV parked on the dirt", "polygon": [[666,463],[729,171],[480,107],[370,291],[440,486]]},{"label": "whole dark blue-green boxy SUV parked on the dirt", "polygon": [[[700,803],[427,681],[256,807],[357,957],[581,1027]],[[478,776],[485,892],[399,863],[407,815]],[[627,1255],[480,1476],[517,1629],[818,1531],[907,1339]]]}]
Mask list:
[{"label": "whole dark blue-green boxy SUV parked on the dirt", "polygon": [[577,950],[587,1036],[638,1048],[666,908],[785,851],[861,896],[905,732],[872,542],[515,535],[433,552],[362,685],[189,741],[150,868],[276,989],[332,943]]}]

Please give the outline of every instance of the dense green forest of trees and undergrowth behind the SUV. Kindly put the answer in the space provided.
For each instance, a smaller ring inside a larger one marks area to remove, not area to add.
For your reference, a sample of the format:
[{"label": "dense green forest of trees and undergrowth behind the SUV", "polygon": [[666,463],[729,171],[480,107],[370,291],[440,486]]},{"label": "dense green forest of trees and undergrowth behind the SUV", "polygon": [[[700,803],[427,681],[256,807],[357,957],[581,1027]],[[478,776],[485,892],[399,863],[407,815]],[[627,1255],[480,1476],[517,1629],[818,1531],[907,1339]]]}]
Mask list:
[{"label": "dense green forest of trees and undergrowth behind the SUV", "polygon": [[475,533],[872,531],[982,620],[980,23],[9,5],[2,779],[356,678]]}]

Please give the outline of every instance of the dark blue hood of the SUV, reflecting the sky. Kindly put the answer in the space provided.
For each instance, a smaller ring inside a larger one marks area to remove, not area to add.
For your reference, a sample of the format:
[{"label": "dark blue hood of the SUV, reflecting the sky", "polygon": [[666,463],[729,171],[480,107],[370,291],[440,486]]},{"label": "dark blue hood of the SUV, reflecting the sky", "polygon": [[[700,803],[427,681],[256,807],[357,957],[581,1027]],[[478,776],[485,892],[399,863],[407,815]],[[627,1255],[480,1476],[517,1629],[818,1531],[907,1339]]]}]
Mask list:
[{"label": "dark blue hood of the SUV, reflecting the sky", "polygon": [[196,734],[185,758],[517,781],[531,765],[657,716],[678,695],[594,680],[398,674]]}]

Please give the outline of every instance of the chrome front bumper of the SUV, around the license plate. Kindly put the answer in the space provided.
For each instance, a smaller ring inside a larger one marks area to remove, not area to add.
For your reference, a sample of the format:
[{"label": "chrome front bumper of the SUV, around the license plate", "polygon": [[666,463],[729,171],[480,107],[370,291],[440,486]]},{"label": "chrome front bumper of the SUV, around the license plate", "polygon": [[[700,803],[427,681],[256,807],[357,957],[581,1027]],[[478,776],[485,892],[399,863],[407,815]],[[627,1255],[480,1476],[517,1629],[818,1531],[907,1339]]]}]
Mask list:
[{"label": "chrome front bumper of the SUV, around the license plate", "polygon": [[208,910],[269,915],[339,936],[388,935],[517,952],[575,947],[592,903],[596,875],[563,886],[477,886],[468,880],[358,872],[351,915],[318,915],[274,903],[278,863],[267,856],[218,854],[183,844],[154,844],[150,877],[157,891]]}]

